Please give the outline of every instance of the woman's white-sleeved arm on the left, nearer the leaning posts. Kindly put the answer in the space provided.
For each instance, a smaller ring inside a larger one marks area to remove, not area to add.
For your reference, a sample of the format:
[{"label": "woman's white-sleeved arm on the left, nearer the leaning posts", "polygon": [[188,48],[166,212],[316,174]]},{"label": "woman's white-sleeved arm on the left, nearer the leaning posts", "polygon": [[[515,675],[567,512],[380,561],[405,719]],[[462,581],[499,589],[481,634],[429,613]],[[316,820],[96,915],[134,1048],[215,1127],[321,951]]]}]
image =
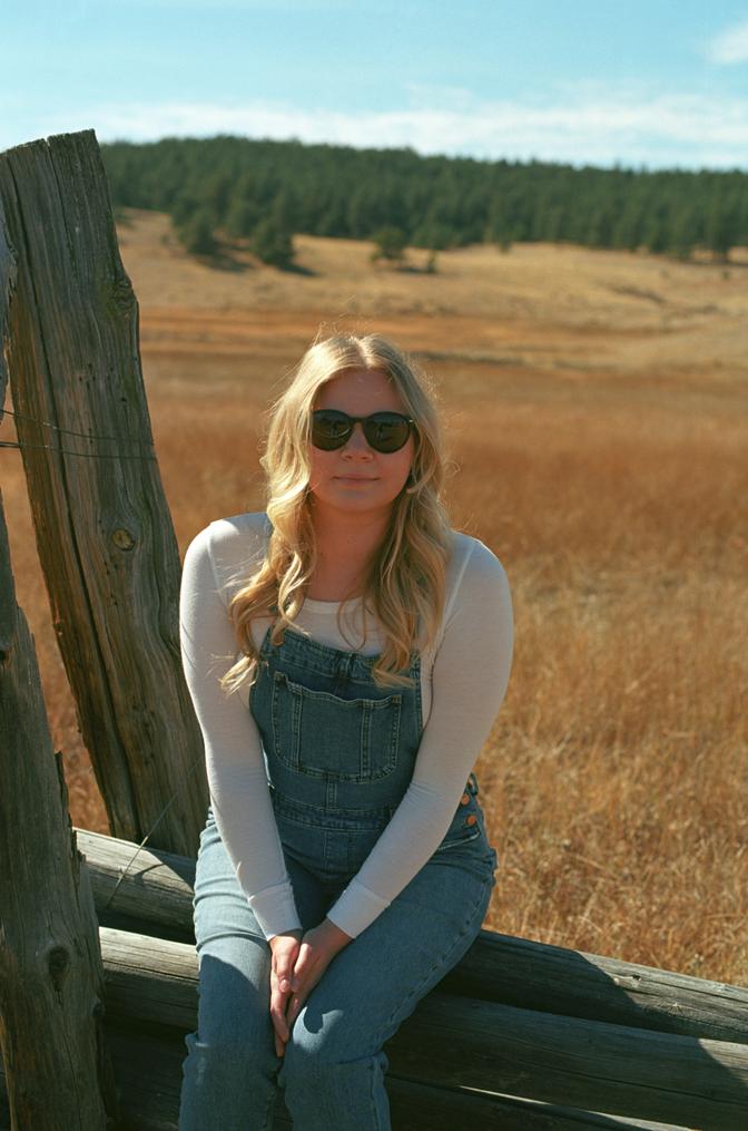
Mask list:
[{"label": "woman's white-sleeved arm on the left, nearer the leaning posts", "polygon": [[[227,528],[220,537],[226,539],[226,551],[235,539],[238,556],[241,534]],[[205,743],[216,824],[237,879],[267,939],[301,932],[260,734],[241,692],[226,696],[218,684],[218,677],[237,658],[238,648],[214,571],[210,527],[193,538],[184,555],[180,641],[184,676]]]}]

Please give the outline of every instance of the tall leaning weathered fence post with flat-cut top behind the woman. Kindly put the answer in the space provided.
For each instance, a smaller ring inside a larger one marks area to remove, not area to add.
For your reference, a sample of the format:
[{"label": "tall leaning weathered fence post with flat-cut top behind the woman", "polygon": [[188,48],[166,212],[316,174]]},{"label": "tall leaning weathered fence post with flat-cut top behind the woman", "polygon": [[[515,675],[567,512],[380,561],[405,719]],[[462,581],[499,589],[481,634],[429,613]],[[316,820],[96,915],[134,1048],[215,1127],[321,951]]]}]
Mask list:
[{"label": "tall leaning weathered fence post with flat-cut top behind the woman", "polygon": [[[181,566],[93,130],[0,154],[18,278],[6,356],[36,544],[114,836],[197,854],[208,789]],[[166,810],[164,812],[164,810]]]}]

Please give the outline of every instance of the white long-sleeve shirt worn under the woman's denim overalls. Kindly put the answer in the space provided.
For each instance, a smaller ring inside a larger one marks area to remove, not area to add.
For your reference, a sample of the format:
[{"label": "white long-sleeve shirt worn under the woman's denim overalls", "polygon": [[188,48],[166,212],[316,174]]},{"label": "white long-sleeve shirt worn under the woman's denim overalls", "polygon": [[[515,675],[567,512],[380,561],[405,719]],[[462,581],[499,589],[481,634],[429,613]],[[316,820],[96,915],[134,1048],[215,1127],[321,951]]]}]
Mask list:
[{"label": "white long-sleeve shirt worn under the woman's denim overalls", "polygon": [[[226,696],[218,679],[240,656],[228,602],[266,553],[262,512],[210,523],[190,543],[180,592],[182,664],[205,742],[218,831],[267,939],[301,929],[270,798],[262,740],[249,689]],[[362,636],[362,601],[307,598],[296,620],[312,639],[363,655],[382,637]],[[252,622],[260,646],[270,619]],[[327,915],[360,934],[423,867],[444,837],[466,780],[504,698],[512,663],[512,602],[504,568],[477,538],[453,532],[444,616],[421,655],[424,731],[412,779],[364,864]]]}]

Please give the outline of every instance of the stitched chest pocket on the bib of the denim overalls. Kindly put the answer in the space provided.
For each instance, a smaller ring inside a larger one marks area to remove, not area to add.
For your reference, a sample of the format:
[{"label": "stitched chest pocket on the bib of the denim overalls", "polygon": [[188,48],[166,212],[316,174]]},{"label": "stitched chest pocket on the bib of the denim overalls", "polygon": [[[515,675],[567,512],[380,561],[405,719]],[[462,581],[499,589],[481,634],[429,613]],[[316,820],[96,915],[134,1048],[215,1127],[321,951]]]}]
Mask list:
[{"label": "stitched chest pocket on the bib of the denim overalls", "polygon": [[272,741],[290,769],[337,782],[374,782],[398,761],[402,696],[341,699],[273,673]]}]

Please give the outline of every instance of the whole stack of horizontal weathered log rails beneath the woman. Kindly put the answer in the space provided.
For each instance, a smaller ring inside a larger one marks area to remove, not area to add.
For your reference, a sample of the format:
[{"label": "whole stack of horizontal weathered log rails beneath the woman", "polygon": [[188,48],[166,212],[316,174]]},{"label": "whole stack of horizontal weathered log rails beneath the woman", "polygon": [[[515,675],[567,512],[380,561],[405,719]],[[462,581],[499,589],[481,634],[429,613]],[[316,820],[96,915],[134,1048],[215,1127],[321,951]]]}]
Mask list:
[{"label": "whole stack of horizontal weathered log rails beneath the woman", "polygon": [[[194,862],[85,830],[77,838],[99,923],[130,927],[99,926],[121,1107],[132,1126],[176,1126],[183,1038],[197,1027]],[[747,990],[489,931],[385,1052],[395,1126],[414,1131],[438,1126],[440,1110],[451,1131],[477,1119],[527,1128],[748,1124]],[[158,1095],[143,1108],[132,1089],[146,1064]],[[288,1125],[282,1099],[277,1125]]]}]

